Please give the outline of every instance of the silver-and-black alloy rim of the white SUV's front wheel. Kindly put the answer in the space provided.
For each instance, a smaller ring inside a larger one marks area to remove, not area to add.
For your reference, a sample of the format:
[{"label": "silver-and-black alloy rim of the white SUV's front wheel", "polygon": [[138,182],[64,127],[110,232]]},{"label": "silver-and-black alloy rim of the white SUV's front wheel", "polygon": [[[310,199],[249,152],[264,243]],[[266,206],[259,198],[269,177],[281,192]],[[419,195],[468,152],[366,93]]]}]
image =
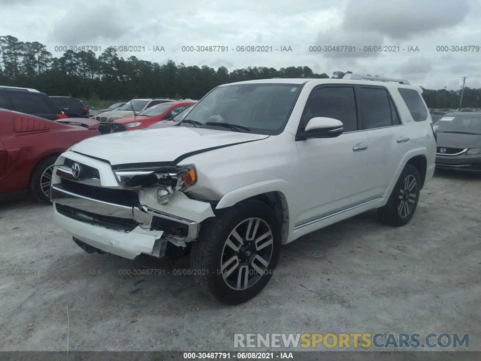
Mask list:
[{"label": "silver-and-black alloy rim of the white SUV's front wheel", "polygon": [[224,282],[232,289],[245,290],[267,272],[274,239],[269,225],[260,218],[239,223],[226,239],[220,259]]}]

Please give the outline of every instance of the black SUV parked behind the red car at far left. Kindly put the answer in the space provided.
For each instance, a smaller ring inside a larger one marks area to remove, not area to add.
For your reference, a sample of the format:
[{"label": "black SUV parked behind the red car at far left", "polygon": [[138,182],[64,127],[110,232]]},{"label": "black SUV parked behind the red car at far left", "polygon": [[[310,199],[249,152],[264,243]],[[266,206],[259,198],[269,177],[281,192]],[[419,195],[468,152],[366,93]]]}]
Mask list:
[{"label": "black SUV parked behind the red car at far left", "polygon": [[67,117],[47,94],[29,88],[0,85],[0,108],[50,120]]}]

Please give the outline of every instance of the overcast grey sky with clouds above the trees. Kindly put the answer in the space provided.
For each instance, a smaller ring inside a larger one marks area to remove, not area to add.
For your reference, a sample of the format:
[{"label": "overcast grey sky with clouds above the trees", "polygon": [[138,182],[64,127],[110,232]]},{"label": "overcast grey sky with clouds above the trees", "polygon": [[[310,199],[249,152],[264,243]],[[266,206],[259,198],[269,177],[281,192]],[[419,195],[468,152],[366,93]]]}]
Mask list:
[{"label": "overcast grey sky with clouds above the trees", "polygon": [[[457,90],[461,77],[468,77],[468,87],[481,88],[479,0],[0,0],[0,13],[0,35],[39,41],[57,57],[62,52],[56,46],[127,45],[145,51],[119,56],[160,64],[173,60],[229,71],[309,66],[329,75],[350,70],[402,77],[429,89]],[[153,52],[155,46],[165,52]],[[182,52],[182,46],[225,46],[228,52]],[[237,52],[238,46],[273,51]],[[313,46],[351,51],[313,52]],[[365,52],[367,46],[399,52]],[[478,51],[437,51],[441,46]],[[419,51],[408,52],[411,47]]]}]

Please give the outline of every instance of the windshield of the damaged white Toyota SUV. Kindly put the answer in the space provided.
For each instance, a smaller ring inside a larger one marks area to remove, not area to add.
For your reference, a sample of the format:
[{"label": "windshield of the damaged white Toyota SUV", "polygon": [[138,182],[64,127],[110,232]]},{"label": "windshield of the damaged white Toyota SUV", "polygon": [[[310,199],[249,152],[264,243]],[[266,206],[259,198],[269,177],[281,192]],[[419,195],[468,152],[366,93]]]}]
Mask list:
[{"label": "windshield of the damaged white Toyota SUV", "polygon": [[[224,122],[248,127],[253,133],[280,134],[301,89],[302,84],[280,83],[221,86],[197,103],[189,116],[182,112],[178,117],[202,123],[203,128],[220,129],[205,123]],[[173,120],[181,120],[176,118]],[[180,125],[191,126],[189,123]]]}]

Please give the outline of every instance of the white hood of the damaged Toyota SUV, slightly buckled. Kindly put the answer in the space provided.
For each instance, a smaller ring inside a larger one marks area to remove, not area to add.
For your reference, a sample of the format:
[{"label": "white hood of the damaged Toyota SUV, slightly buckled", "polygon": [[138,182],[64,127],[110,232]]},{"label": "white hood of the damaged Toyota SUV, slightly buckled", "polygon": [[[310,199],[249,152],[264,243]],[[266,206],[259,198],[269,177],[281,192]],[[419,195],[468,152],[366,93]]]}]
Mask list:
[{"label": "white hood of the damaged Toyota SUV, slightly buckled", "polygon": [[79,142],[71,150],[108,160],[114,166],[172,162],[190,152],[268,137],[262,134],[174,126],[105,134]]}]

